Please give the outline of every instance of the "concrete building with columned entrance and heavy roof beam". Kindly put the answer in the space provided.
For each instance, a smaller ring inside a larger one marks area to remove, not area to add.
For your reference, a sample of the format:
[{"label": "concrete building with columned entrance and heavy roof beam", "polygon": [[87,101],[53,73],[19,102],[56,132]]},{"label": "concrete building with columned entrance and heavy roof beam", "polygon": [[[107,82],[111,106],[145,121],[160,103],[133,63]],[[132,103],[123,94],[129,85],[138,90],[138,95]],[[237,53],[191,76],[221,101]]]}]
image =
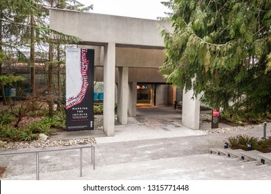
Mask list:
[{"label": "concrete building with columned entrance and heavy roof beam", "polygon": [[[95,81],[104,82],[104,132],[108,136],[114,135],[116,101],[122,125],[128,116],[136,116],[137,87],[147,89],[140,94],[141,100],[152,105],[174,102],[169,96],[175,91],[158,73],[165,47],[160,32],[171,29],[168,21],[51,9],[50,28],[80,37],[80,48],[95,49]],[[183,94],[182,123],[198,130],[200,103],[191,100],[192,94]]]}]

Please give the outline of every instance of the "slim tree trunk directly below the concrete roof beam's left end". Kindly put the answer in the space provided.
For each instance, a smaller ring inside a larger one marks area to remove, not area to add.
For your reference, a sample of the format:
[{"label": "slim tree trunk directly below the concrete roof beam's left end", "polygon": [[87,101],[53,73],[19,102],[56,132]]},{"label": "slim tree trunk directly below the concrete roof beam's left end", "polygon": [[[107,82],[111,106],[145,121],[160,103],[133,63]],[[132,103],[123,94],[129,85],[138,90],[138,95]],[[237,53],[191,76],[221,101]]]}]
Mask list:
[{"label": "slim tree trunk directly below the concrete roof beam's left end", "polygon": [[49,116],[53,116],[53,44],[49,44],[49,65],[48,65],[48,105],[49,105]]}]

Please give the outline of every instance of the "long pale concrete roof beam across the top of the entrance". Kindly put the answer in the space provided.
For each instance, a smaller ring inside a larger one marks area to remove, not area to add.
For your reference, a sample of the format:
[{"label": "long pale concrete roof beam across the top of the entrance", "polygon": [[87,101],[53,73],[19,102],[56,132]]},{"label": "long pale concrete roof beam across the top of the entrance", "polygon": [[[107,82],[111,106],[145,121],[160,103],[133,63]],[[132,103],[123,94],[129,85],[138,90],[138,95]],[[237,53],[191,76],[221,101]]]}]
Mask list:
[{"label": "long pale concrete roof beam across the top of the entrance", "polygon": [[168,21],[50,9],[50,28],[96,45],[114,42],[164,48],[161,26],[171,29]]}]

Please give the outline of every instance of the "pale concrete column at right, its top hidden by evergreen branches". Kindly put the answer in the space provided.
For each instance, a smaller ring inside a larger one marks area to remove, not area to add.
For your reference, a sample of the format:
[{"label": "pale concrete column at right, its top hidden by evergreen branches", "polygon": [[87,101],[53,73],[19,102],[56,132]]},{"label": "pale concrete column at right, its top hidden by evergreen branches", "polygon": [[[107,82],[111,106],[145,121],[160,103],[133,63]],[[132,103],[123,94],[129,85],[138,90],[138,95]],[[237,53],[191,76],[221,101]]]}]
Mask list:
[{"label": "pale concrete column at right, its top hidden by evergreen branches", "polygon": [[191,130],[200,129],[200,96],[191,99],[194,94],[193,90],[183,90],[183,113],[182,113],[182,125],[188,127]]}]

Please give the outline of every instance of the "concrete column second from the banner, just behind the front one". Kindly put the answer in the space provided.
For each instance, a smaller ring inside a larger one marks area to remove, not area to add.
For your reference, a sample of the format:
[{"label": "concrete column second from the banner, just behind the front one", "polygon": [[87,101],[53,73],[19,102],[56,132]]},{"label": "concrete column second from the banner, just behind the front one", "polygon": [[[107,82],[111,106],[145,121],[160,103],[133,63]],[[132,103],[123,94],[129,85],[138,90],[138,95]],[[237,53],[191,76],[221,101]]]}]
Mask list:
[{"label": "concrete column second from the banner, just behind the front one", "polygon": [[128,67],[118,68],[118,121],[127,125],[128,114]]}]

